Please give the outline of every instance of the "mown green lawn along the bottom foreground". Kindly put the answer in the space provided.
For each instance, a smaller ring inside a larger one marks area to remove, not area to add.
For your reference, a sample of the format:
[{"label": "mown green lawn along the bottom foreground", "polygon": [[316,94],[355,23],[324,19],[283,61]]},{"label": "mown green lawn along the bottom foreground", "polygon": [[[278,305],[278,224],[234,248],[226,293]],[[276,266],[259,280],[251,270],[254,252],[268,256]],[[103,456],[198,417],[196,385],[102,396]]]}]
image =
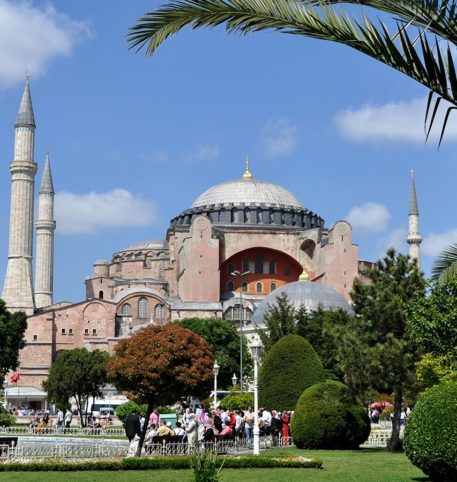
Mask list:
[{"label": "mown green lawn along the bottom foreground", "polygon": [[[420,470],[410,464],[404,454],[388,453],[373,449],[361,451],[302,451],[294,448],[276,449],[269,455],[303,455],[319,457],[324,462],[322,470],[316,469],[226,469],[222,481],[274,482],[274,481],[366,481],[399,482],[428,480]],[[0,481],[40,482],[129,482],[157,481],[179,482],[191,480],[191,472],[182,471],[129,471],[125,472],[3,472]]]}]

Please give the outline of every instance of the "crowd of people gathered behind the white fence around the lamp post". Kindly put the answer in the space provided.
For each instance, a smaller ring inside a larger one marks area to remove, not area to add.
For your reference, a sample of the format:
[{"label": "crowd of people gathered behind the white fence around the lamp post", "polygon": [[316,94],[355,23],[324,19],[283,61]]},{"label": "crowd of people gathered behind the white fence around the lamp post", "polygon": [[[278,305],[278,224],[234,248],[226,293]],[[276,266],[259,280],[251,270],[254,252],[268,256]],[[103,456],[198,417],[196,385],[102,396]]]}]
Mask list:
[{"label": "crowd of people gathered behind the white fence around the lamp post", "polygon": [[[293,413],[279,412],[266,408],[259,409],[259,434],[271,436],[273,444],[287,445],[290,443],[290,421]],[[160,419],[157,409],[153,410],[149,420],[140,419],[134,413],[127,417],[125,432],[132,443],[139,440],[142,428],[147,423],[145,447],[162,442],[186,442],[189,449],[199,444],[214,440],[246,440],[252,441],[254,436],[255,415],[252,407],[246,410],[227,410],[217,408],[206,410],[203,406],[182,408],[179,421],[173,429],[171,422]]]}]

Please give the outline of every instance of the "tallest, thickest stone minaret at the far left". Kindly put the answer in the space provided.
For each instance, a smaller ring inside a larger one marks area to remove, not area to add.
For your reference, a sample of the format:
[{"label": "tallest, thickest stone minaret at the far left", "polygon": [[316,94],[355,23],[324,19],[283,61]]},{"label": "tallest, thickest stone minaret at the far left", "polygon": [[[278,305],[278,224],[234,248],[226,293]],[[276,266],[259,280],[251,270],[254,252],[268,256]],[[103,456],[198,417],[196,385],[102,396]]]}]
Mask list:
[{"label": "tallest, thickest stone minaret at the far left", "polygon": [[3,299],[11,311],[33,314],[32,252],[33,252],[33,201],[35,174],[34,161],[35,118],[29,90],[29,76],[16,118],[14,159],[10,164],[11,208]]}]

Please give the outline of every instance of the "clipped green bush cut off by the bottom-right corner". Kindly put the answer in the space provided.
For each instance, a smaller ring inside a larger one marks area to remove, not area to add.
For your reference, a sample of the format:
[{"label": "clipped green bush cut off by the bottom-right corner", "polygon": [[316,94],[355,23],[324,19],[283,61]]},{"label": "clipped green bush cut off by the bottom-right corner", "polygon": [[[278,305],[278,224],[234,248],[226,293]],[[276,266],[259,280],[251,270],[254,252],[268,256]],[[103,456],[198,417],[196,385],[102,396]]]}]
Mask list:
[{"label": "clipped green bush cut off by the bottom-right corner", "polygon": [[420,396],[405,427],[409,460],[432,480],[457,480],[457,382],[435,385]]}]

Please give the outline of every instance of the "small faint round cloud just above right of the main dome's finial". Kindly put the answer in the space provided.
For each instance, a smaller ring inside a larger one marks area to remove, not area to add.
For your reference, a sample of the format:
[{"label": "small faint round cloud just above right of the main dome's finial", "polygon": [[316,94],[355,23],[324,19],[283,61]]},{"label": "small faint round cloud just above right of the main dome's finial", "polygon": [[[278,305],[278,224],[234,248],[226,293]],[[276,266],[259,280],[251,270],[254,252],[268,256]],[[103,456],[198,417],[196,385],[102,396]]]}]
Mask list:
[{"label": "small faint round cloud just above right of the main dome's finial", "polygon": [[267,157],[285,156],[298,144],[297,127],[287,119],[270,119],[260,132],[259,140]]}]

